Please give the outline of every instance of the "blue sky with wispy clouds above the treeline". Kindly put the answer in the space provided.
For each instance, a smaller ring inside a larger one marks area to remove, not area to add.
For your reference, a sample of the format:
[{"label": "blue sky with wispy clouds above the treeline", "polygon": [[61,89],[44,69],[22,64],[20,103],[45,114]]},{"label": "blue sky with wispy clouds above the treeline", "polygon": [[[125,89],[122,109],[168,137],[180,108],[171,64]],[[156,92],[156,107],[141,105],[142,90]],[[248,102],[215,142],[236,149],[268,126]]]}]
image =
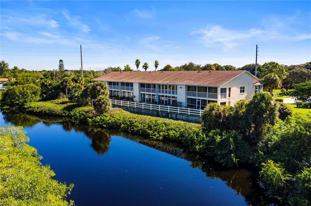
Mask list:
[{"label": "blue sky with wispy clouds above the treeline", "polygon": [[[98,70],[311,61],[311,1],[1,1],[10,67]],[[141,66],[142,67],[142,66]]]}]

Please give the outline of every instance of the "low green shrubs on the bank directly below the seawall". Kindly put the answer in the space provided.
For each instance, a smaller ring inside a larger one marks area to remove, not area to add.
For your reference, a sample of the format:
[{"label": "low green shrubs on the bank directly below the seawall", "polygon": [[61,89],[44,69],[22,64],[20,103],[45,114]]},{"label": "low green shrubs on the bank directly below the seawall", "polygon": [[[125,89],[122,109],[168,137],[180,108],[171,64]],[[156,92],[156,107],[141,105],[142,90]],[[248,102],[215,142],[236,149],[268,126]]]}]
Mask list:
[{"label": "low green shrubs on the bank directly below the seawall", "polygon": [[[187,141],[187,139],[205,136],[199,124],[132,114],[119,108],[112,108],[107,113],[95,116],[89,120],[89,124],[97,127],[119,129],[158,140],[184,142],[188,145],[191,145],[191,142]],[[196,146],[193,146],[190,149],[196,150],[195,148]]]}]

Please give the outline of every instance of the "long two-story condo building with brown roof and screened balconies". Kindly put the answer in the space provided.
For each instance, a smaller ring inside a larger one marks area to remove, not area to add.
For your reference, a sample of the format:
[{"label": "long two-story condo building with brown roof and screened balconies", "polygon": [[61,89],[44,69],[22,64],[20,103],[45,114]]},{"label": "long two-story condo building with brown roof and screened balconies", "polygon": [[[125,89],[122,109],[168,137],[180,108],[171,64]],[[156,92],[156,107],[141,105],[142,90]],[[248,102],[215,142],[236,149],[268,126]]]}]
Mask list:
[{"label": "long two-story condo building with brown roof and screened balconies", "polygon": [[165,105],[177,101],[195,109],[211,102],[233,105],[263,89],[262,81],[245,70],[110,72],[94,81],[104,81],[110,96]]}]

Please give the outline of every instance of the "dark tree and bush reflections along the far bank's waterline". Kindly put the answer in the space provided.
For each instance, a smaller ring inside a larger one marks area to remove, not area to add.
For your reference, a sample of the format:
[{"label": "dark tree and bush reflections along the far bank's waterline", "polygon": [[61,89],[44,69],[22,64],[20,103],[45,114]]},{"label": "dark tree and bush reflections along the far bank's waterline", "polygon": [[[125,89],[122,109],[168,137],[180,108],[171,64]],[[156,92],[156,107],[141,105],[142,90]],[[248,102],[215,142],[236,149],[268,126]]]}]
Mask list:
[{"label": "dark tree and bush reflections along the far bank's waterline", "polygon": [[115,130],[92,128],[86,125],[76,125],[67,118],[39,117],[28,114],[3,114],[5,122],[16,126],[31,127],[43,122],[44,125],[61,124],[66,131],[83,132],[91,140],[91,147],[101,155],[106,153],[110,147],[112,136],[122,136],[159,151],[166,152],[176,157],[188,160],[189,165],[194,169],[202,170],[207,178],[221,179],[225,184],[234,190],[237,195],[242,195],[249,205],[273,205],[273,201],[264,195],[258,185],[258,177],[248,169],[227,169],[216,164],[212,159],[198,154],[187,153],[174,143],[158,142],[141,138],[135,135],[121,133]]}]

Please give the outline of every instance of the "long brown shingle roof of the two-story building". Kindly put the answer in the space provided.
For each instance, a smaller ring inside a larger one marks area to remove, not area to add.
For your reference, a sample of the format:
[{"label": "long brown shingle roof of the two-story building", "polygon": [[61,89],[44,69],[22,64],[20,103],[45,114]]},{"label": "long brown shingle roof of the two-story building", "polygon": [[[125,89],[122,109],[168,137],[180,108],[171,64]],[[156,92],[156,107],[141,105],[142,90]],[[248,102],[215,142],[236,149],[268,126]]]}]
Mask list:
[{"label": "long brown shingle roof of the two-story building", "polygon": [[151,84],[179,84],[220,86],[245,70],[235,71],[153,71],[153,72],[110,72],[93,81],[122,81]]}]

